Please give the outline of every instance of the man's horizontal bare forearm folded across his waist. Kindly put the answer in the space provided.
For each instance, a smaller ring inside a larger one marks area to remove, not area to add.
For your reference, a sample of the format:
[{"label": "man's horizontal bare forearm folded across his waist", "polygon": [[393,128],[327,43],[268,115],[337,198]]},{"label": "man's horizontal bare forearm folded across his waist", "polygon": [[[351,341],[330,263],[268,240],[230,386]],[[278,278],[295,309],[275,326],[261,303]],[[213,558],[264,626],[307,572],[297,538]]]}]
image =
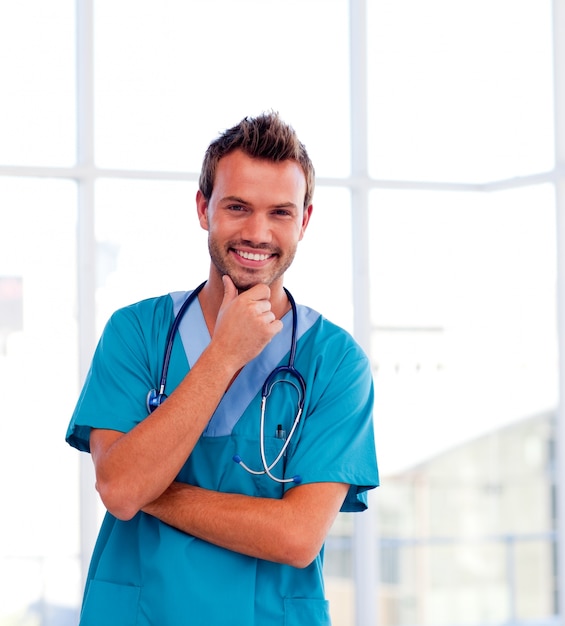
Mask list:
[{"label": "man's horizontal bare forearm folded across his waist", "polygon": [[312,483],[272,499],[174,482],[143,511],[223,548],[306,567],[319,553],[347,490],[342,483]]}]

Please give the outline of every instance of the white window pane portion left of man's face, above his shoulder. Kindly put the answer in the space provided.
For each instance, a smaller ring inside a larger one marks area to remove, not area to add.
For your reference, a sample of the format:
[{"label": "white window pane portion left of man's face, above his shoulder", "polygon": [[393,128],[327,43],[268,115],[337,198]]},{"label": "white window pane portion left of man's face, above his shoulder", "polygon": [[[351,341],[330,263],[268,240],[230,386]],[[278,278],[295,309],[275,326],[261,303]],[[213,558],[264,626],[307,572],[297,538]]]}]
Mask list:
[{"label": "white window pane portion left of man's face, above his shoulder", "polygon": [[99,332],[114,310],[208,277],[196,184],[101,180],[96,186]]}]

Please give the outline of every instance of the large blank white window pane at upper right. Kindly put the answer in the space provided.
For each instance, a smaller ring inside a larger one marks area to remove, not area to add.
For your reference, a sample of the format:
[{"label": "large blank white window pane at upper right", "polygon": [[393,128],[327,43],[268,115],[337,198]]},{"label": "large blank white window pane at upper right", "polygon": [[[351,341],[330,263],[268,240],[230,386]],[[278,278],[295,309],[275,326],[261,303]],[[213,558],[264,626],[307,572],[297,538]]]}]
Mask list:
[{"label": "large blank white window pane at upper right", "polygon": [[367,4],[374,176],[486,181],[553,167],[549,0]]}]

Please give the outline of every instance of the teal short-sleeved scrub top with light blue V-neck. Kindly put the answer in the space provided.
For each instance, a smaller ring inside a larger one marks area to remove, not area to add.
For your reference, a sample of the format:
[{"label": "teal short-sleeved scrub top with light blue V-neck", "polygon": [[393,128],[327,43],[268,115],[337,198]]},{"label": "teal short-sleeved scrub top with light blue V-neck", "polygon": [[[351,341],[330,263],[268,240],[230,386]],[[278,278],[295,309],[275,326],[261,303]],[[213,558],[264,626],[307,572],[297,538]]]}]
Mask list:
[{"label": "teal short-sleeved scrub top with light blue V-neck", "polygon": [[[72,416],[67,441],[89,451],[92,428],[128,432],[147,416],[146,398],[161,378],[168,331],[187,292],[120,309],[100,338]],[[352,337],[314,310],[299,306],[295,366],[306,381],[304,411],[281,462],[280,478],[350,485],[342,511],[366,508],[378,485],[368,359]],[[177,480],[216,491],[281,498],[294,483],[252,475],[239,455],[262,469],[261,388],[288,363],[292,313],[284,328],[248,363],[225,393]],[[170,394],[210,341],[195,300],[174,339]],[[282,378],[285,378],[282,376]],[[292,379],[289,379],[292,382]],[[297,411],[292,384],[272,388],[265,412],[267,462],[276,458]],[[241,523],[245,523],[242,521]],[[281,528],[281,533],[292,529]],[[81,626],[325,626],[323,549],[298,569],[214,546],[145,513],[120,521],[107,513],[92,556]]]}]

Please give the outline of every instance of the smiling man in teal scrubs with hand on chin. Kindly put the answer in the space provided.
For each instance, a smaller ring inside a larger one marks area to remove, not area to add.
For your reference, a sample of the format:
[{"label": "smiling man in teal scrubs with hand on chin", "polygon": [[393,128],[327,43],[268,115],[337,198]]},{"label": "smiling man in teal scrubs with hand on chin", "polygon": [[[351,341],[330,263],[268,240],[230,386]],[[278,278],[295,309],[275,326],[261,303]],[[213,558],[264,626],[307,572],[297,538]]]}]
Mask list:
[{"label": "smiling man in teal scrubs with hand on chin", "polygon": [[108,509],[81,626],[330,624],[324,539],[378,472],[366,356],[283,288],[313,188],[293,129],[245,118],[204,158],[210,271],[178,331],[185,293],[108,322],[67,433]]}]

